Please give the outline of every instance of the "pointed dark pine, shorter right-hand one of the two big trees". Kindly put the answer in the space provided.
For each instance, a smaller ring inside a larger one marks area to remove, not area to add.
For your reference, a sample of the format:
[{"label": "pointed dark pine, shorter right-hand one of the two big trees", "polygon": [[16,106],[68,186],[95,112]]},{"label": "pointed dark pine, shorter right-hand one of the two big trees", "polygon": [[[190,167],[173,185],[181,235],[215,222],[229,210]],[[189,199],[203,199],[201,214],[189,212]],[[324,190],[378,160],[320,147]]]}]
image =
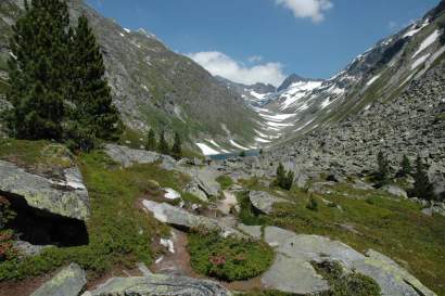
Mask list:
[{"label": "pointed dark pine, shorter right-hand one of the two big trees", "polygon": [[96,139],[115,139],[120,121],[112,103],[100,47],[85,15],[78,18],[73,35],[69,64],[68,138],[74,138],[81,150],[89,150]]}]

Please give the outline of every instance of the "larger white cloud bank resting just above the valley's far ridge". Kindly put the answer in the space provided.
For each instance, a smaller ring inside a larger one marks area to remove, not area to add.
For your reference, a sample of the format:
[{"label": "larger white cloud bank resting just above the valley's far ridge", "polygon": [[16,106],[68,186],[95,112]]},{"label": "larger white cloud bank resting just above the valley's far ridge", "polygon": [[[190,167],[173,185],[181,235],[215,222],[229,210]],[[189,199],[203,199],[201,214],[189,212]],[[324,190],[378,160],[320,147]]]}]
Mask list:
[{"label": "larger white cloud bank resting just above the valley's far ridge", "polygon": [[221,76],[234,82],[254,85],[256,82],[279,86],[285,78],[280,63],[266,63],[247,67],[218,51],[188,54],[212,75]]}]

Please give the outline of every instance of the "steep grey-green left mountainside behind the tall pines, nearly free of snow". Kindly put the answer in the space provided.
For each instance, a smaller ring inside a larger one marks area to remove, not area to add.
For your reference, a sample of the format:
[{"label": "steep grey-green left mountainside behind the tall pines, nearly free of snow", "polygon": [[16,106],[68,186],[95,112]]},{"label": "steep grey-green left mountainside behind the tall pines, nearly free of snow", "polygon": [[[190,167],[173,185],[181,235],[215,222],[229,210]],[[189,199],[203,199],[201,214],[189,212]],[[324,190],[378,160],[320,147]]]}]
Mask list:
[{"label": "steep grey-green left mountainside behind the tall pines, nearly free of snow", "polygon": [[[150,127],[168,133],[179,131],[189,143],[215,139],[227,149],[234,149],[227,139],[243,144],[253,140],[255,113],[201,66],[173,52],[151,34],[120,27],[81,0],[68,2],[73,20],[82,13],[90,20],[104,53],[114,104],[128,128],[141,132]],[[0,92],[9,55],[8,38],[21,3],[0,2]]]}]

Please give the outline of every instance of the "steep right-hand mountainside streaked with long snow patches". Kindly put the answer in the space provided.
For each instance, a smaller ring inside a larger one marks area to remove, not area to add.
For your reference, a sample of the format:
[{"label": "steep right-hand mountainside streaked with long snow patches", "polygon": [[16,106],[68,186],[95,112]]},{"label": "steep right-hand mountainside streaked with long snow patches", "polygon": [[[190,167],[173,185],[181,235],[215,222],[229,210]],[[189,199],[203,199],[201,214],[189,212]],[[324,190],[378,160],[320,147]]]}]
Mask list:
[{"label": "steep right-hand mountainside streaked with long snow patches", "polygon": [[285,81],[287,88],[280,87],[281,91],[255,110],[263,118],[266,116],[266,125],[268,118],[275,121],[264,138],[285,141],[325,129],[368,110],[378,99],[391,101],[399,95],[410,81],[444,59],[445,47],[440,42],[444,12],[442,1],[422,20],[379,41],[328,80]]}]

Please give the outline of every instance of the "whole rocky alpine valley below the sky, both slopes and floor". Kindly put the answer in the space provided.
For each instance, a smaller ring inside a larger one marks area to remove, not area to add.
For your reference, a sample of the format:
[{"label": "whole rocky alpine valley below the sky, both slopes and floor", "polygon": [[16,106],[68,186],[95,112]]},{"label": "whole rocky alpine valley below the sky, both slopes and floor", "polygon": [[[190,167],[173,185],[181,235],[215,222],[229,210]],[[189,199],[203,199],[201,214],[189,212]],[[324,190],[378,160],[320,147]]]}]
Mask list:
[{"label": "whole rocky alpine valley below the sky, both slopes and floor", "polygon": [[[0,0],[0,296],[445,296],[445,0],[279,87],[213,76],[82,0],[28,2]],[[44,48],[64,8],[58,42],[80,54]],[[35,52],[77,69],[60,96],[27,75],[51,74]],[[73,86],[119,120],[91,127]],[[20,133],[28,89],[36,108],[66,95],[63,136]]]}]

